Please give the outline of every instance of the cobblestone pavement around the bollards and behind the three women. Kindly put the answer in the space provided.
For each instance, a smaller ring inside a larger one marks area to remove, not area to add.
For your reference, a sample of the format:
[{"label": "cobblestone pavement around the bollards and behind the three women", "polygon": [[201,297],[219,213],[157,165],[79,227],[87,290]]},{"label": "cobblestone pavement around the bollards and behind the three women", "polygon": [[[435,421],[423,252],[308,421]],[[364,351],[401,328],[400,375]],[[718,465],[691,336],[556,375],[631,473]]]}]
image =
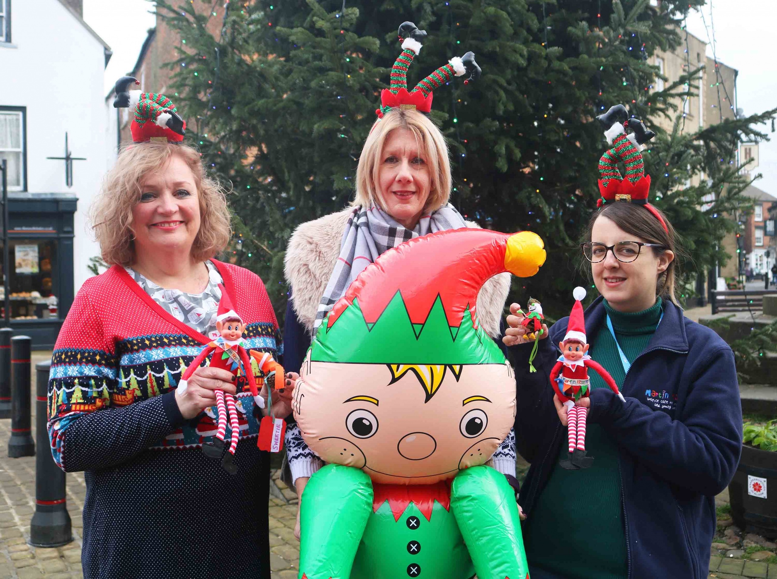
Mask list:
[{"label": "cobblestone pavement around the bollards and behind the three women", "polygon": [[[33,352],[36,362],[51,357],[51,352]],[[33,376],[34,379],[34,376]],[[33,381],[33,432],[35,425],[35,384]],[[86,487],[82,473],[68,473],[68,512],[73,526],[73,542],[54,549],[29,546],[30,519],[35,504],[35,457],[9,459],[6,452],[10,421],[0,420],[0,579],[64,579],[82,577],[81,511]],[[519,465],[522,474],[528,465]],[[273,473],[270,485],[270,568],[272,579],[296,579],[299,542],[294,538],[297,497]],[[727,491],[717,498],[719,506],[728,503]],[[765,577],[777,579],[777,545],[763,537],[744,535],[733,527],[730,518],[720,517],[713,556],[709,560],[709,579]]]}]

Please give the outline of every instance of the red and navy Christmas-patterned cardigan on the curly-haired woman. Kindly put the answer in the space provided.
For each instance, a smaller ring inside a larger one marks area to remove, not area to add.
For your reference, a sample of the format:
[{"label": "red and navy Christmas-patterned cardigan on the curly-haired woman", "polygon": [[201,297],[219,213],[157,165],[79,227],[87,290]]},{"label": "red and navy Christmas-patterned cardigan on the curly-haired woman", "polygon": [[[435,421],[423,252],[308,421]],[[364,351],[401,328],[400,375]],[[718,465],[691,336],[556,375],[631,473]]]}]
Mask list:
[{"label": "red and navy Christmas-patterned cardigan on the curly-haired woman", "polygon": [[[247,348],[277,356],[261,279],[214,265],[246,321]],[[261,414],[246,376],[237,380],[235,476],[201,450],[216,434],[215,408],[186,421],[176,404],[181,373],[209,342],[118,266],[78,291],[54,348],[49,435],[57,464],[85,471],[88,579],[270,577],[269,459],[256,448]],[[253,358],[251,368],[261,387]]]}]

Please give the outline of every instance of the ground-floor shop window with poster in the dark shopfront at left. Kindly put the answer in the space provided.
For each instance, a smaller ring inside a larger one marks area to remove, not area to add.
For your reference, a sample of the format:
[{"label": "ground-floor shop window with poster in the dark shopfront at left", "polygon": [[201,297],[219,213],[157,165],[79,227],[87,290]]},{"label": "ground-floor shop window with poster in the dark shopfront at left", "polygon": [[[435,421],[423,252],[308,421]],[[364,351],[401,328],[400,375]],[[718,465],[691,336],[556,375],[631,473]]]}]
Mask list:
[{"label": "ground-floor shop window with poster in the dark shopfront at left", "polygon": [[[57,280],[54,279],[54,272],[57,271],[57,240],[12,239],[9,243],[11,319],[59,317],[59,300],[55,292]],[[2,286],[0,300],[5,300],[5,289]],[[2,314],[5,315],[5,312]]]}]

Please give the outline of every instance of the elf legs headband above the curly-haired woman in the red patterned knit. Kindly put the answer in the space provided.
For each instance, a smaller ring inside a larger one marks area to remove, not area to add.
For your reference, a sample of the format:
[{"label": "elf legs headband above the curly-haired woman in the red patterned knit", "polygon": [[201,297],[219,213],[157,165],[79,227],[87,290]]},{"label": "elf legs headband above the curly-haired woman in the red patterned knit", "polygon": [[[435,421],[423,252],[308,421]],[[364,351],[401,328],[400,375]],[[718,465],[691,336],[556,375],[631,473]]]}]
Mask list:
[{"label": "elf legs headband above the curly-haired woman in the red patterned knit", "polygon": [[129,108],[134,114],[130,125],[132,140],[135,143],[180,143],[186,132],[186,121],[179,116],[172,101],[155,92],[127,90],[133,82],[136,85],[141,84],[131,76],[123,76],[117,80],[116,98],[113,99],[114,108]]}]

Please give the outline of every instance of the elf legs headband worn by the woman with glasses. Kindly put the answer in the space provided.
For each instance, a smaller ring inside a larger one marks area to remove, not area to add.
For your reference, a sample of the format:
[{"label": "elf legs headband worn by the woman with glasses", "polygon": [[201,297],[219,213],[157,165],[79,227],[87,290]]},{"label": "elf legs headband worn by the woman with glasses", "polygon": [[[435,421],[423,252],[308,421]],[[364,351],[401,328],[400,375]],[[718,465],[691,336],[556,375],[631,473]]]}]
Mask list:
[{"label": "elf legs headband worn by the woman with glasses", "polygon": [[[642,157],[643,143],[656,136],[647,130],[645,124],[634,117],[629,118],[625,106],[611,106],[607,113],[596,117],[605,127],[605,137],[612,145],[599,159],[599,192],[601,207],[611,201],[627,201],[642,205],[660,221],[664,231],[669,229],[658,210],[647,201],[650,192],[650,175],[645,175],[645,161]],[[632,133],[626,134],[626,130]],[[625,179],[618,171],[618,161],[625,167]]]}]

